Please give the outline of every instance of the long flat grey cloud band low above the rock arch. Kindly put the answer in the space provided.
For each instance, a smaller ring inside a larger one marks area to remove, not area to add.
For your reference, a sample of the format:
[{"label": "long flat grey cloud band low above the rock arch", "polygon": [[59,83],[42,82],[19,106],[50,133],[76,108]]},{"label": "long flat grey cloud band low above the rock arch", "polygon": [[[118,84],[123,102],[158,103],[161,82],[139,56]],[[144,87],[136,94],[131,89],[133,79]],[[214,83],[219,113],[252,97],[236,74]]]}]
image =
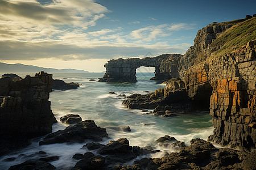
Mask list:
[{"label": "long flat grey cloud band low above the rock arch", "polygon": [[137,57],[148,52],[159,55],[162,53],[184,53],[185,48],[166,44],[138,45],[114,43],[108,41],[87,42],[88,44],[65,44],[59,40],[38,42],[0,41],[0,56],[3,60],[29,60],[40,58],[56,58],[65,61],[90,58]]}]

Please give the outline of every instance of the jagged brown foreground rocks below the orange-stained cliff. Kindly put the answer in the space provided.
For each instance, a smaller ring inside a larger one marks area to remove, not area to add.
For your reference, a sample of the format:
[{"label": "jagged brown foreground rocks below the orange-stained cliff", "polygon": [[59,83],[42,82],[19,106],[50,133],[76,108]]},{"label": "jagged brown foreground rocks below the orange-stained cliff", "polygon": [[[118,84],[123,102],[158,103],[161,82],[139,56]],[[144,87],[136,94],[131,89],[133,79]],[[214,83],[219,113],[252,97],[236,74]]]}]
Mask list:
[{"label": "jagged brown foreground rocks below the orange-stained cliff", "polygon": [[143,158],[134,165],[115,165],[115,169],[255,169],[253,155],[255,151],[217,149],[212,143],[197,138],[179,152],[162,158]]}]

